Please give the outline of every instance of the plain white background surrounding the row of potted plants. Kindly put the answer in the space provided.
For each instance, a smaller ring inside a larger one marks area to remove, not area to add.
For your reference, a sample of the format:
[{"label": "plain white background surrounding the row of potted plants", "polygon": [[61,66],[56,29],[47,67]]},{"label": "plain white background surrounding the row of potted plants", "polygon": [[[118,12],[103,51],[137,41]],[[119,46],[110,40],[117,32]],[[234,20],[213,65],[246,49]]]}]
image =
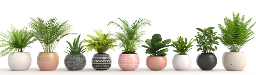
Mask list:
[{"label": "plain white background surrounding the row of potted plants", "polygon": [[[109,21],[120,22],[117,18],[127,20],[132,23],[138,18],[147,18],[152,22],[152,27],[144,27],[142,31],[147,31],[141,40],[151,39],[152,35],[158,33],[163,39],[172,39],[176,41],[178,36],[184,36],[188,39],[195,38],[199,28],[216,27],[214,31],[220,33],[218,24],[224,25],[225,17],[232,18],[232,12],[245,15],[246,20],[253,18],[250,25],[256,22],[255,2],[253,0],[1,0],[0,1],[0,31],[7,33],[10,30],[11,24],[16,28],[21,29],[23,26],[28,26],[30,17],[40,17],[47,20],[52,17],[57,17],[61,21],[69,20],[73,25],[72,32],[82,35],[95,35],[93,29],[102,29],[104,32],[111,30],[111,33],[119,31],[115,26],[107,26]],[[255,31],[255,26],[253,30]],[[30,29],[30,28],[29,28]],[[87,63],[82,71],[67,71],[64,65],[64,58],[67,55],[63,51],[68,46],[67,41],[72,41],[78,35],[68,35],[61,39],[58,43],[55,52],[59,54],[60,63],[56,71],[39,71],[36,63],[37,55],[43,52],[40,42],[30,44],[32,48],[27,47],[25,52],[30,52],[32,56],[32,64],[28,71],[11,71],[8,67],[7,58],[0,58],[0,73],[7,74],[255,74],[255,43],[256,39],[252,39],[246,43],[241,52],[247,53],[248,62],[243,71],[226,71],[222,66],[222,54],[228,52],[227,47],[221,45],[213,52],[218,63],[212,71],[201,71],[196,64],[196,57],[201,51],[196,52],[197,47],[188,53],[192,59],[192,65],[188,71],[175,71],[172,66],[172,58],[174,54],[173,47],[168,47],[166,57],[168,58],[167,67],[161,71],[151,71],[146,66],[146,58],[149,54],[145,53],[145,48],[138,48],[136,53],[140,56],[140,66],[136,71],[120,71],[118,66],[118,56],[122,53],[122,49],[116,48],[115,51],[109,50],[108,53],[112,58],[112,67],[107,71],[95,71],[91,66],[91,58],[93,54],[84,53],[87,58]],[[255,35],[253,35],[255,37]],[[81,38],[86,38],[82,36]],[[253,44],[254,43],[254,44]],[[118,44],[118,43],[117,43]],[[144,44],[145,43],[141,43]],[[193,43],[196,45],[196,42]],[[0,48],[3,50],[4,48]]]}]

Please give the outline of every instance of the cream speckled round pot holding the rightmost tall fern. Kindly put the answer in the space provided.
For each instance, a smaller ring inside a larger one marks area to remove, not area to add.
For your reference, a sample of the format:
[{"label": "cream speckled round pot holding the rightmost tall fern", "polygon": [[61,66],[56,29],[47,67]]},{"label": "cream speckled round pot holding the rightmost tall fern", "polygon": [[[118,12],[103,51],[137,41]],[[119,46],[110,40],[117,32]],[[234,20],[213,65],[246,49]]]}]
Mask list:
[{"label": "cream speckled round pot holding the rightmost tall fern", "polygon": [[246,62],[247,57],[243,52],[225,52],[222,55],[222,64],[226,70],[242,71]]}]

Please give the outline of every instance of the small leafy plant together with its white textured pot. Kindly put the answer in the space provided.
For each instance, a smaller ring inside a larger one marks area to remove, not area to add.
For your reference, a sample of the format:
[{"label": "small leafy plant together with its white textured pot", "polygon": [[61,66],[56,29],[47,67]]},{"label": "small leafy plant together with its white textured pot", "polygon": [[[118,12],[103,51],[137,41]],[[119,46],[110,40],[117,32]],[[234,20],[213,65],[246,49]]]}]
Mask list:
[{"label": "small leafy plant together with its white textured pot", "polygon": [[[173,50],[174,52],[178,53],[173,56],[173,68],[175,70],[189,70],[191,67],[191,58],[187,54],[189,52],[190,47],[193,43],[192,39],[187,42],[187,38],[185,39],[182,36],[177,37],[178,41],[173,42],[172,46],[176,48]],[[192,42],[191,42],[192,41]]]}]

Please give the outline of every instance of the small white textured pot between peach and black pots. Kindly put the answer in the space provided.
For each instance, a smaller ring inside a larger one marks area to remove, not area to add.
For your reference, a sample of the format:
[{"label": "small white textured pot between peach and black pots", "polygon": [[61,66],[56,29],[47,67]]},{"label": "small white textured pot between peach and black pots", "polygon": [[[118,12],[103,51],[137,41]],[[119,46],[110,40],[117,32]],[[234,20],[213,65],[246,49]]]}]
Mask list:
[{"label": "small white textured pot between peach and black pots", "polygon": [[191,67],[191,58],[189,55],[179,55],[173,56],[173,68],[175,70],[189,70]]}]

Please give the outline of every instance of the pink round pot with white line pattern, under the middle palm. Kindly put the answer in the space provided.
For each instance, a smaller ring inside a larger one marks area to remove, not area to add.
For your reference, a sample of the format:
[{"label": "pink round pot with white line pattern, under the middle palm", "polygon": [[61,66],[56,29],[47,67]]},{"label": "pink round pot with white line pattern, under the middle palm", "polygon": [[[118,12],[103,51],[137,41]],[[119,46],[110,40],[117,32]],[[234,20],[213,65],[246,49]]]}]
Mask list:
[{"label": "pink round pot with white line pattern, under the middle palm", "polygon": [[138,54],[120,54],[118,65],[122,70],[136,70],[139,67],[140,58]]}]

